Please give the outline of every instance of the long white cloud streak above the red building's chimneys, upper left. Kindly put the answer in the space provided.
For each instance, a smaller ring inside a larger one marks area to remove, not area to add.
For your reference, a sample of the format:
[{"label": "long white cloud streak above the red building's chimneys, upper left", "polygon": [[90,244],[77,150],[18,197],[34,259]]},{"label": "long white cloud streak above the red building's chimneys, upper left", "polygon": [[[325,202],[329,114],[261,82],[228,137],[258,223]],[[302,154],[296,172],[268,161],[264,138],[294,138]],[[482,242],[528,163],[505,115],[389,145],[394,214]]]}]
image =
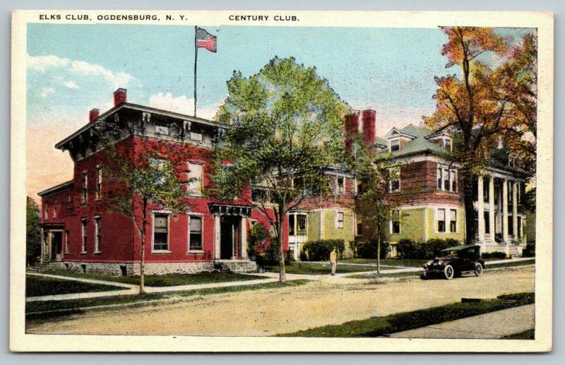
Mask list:
[{"label": "long white cloud streak above the red building's chimneys, upper left", "polygon": [[99,64],[60,58],[52,54],[49,56],[30,56],[28,54],[28,68],[40,73],[44,73],[49,68],[66,68],[66,71],[79,76],[101,76],[113,88],[125,88],[134,79],[129,73],[114,72]]}]

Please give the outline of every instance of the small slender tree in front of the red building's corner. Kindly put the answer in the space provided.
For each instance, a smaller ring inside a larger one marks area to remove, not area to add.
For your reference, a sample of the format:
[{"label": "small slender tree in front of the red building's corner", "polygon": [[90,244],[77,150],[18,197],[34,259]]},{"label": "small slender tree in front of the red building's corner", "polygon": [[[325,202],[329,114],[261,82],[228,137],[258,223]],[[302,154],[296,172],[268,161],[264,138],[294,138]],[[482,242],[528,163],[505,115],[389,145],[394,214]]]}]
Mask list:
[{"label": "small slender tree in front of the red building's corner", "polygon": [[[145,292],[145,245],[148,218],[152,210],[172,214],[189,210],[186,183],[180,168],[186,164],[189,148],[179,143],[143,137],[131,144],[116,144],[105,131],[102,176],[105,190],[98,204],[112,213],[129,217],[139,234],[139,293]],[[188,173],[188,171],[186,171]]]}]

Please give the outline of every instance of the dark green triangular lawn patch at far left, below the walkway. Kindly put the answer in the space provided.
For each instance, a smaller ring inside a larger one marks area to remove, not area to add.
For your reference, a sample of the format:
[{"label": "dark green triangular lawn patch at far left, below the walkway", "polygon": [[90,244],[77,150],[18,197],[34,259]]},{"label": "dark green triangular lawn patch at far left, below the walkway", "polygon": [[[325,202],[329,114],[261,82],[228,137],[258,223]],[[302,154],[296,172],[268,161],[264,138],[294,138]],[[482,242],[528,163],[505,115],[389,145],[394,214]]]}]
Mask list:
[{"label": "dark green triangular lawn patch at far left, below the walkway", "polygon": [[55,279],[54,277],[25,275],[25,297],[40,297],[42,295],[85,292],[107,292],[109,290],[120,289],[124,288],[113,287],[112,285],[90,284],[90,282]]}]

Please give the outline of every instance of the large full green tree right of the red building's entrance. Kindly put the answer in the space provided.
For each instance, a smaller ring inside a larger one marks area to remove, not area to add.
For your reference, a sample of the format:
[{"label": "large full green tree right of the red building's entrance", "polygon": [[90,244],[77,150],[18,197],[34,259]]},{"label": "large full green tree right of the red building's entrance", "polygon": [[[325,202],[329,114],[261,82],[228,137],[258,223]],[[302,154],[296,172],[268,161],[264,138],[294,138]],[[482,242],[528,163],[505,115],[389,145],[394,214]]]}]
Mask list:
[{"label": "large full green tree right of the red building's entrance", "polygon": [[283,221],[311,194],[329,189],[321,168],[343,155],[343,116],[349,109],[316,68],[275,57],[259,73],[234,72],[219,120],[231,127],[215,150],[215,193],[233,197],[251,184],[253,203],[268,218],[285,281]]}]

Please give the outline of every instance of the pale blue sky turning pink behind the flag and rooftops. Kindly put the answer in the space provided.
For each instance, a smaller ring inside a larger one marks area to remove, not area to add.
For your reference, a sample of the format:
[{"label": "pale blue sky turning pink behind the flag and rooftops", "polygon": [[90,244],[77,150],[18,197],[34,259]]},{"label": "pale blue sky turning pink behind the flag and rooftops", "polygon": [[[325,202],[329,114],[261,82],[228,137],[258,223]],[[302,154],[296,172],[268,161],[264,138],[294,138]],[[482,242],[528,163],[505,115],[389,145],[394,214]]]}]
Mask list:
[{"label": "pale blue sky turning pink behind the flag and rooftops", "polygon": [[[456,72],[445,68],[437,28],[203,28],[218,36],[218,53],[198,51],[198,116],[215,114],[234,70],[249,76],[275,55],[295,56],[354,109],[375,109],[384,134],[431,114],[434,76]],[[524,31],[501,30],[515,38]],[[35,131],[53,150],[86,124],[88,110],[112,107],[119,87],[130,102],[192,114],[194,25],[29,24],[27,52],[28,145]],[[69,164],[60,152],[52,158]]]}]

